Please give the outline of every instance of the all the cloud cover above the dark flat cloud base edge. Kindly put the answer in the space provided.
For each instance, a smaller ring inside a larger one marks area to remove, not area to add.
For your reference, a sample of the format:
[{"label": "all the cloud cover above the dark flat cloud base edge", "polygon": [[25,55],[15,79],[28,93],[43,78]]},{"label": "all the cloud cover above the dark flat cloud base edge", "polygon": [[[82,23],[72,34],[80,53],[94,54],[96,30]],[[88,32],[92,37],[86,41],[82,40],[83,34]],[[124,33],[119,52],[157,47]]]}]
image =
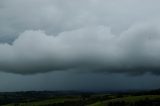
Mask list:
[{"label": "all the cloud cover above the dark flat cloud base edge", "polygon": [[158,1],[0,2],[1,71],[160,74]]}]

